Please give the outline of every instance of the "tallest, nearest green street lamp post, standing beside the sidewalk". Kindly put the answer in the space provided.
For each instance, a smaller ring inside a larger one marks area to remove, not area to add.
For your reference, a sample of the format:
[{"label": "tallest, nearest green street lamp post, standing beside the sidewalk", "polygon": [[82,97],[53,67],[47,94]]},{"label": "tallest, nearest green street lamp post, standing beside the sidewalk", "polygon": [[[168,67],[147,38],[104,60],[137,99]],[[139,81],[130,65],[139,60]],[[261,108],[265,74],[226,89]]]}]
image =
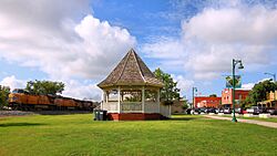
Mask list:
[{"label": "tallest, nearest green street lamp post, standing beside the sidewalk", "polygon": [[244,69],[243,66],[243,63],[242,63],[242,60],[235,60],[233,59],[233,92],[232,92],[232,103],[233,103],[233,118],[232,118],[232,122],[237,122],[237,118],[236,118],[236,115],[235,115],[235,89],[236,89],[236,82],[235,82],[235,69],[236,69],[236,64],[239,63],[239,66],[238,69]]}]

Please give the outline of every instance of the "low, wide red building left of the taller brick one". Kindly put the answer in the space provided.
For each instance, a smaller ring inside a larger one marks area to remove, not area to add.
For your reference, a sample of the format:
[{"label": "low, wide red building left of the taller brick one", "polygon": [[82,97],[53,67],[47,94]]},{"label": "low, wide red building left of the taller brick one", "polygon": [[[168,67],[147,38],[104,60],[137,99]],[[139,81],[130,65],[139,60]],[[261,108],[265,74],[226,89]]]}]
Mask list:
[{"label": "low, wide red building left of the taller brick one", "polygon": [[194,107],[218,107],[222,97],[195,96]]}]

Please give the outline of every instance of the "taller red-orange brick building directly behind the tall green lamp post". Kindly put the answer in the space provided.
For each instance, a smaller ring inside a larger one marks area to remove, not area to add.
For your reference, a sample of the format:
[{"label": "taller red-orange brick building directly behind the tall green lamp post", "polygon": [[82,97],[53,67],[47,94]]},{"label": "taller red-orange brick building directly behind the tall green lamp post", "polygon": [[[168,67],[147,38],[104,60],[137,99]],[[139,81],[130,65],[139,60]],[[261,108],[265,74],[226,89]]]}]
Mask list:
[{"label": "taller red-orange brick building directly behind the tall green lamp post", "polygon": [[[223,107],[233,107],[232,105],[232,100],[233,100],[233,94],[232,94],[233,89],[224,89],[222,91],[222,105]],[[239,104],[240,101],[244,101],[249,94],[249,90],[235,90],[235,103]]]}]

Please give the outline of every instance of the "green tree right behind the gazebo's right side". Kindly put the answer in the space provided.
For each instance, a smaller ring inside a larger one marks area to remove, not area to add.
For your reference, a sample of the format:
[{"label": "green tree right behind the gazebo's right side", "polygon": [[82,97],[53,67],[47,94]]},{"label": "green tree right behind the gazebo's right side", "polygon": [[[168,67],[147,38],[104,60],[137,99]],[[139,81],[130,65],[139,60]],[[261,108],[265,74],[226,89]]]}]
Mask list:
[{"label": "green tree right behind the gazebo's right side", "polygon": [[161,90],[161,100],[165,104],[173,104],[173,101],[179,98],[179,89],[177,89],[177,82],[174,82],[171,74],[164,73],[161,69],[156,69],[154,74],[164,83],[164,87]]}]

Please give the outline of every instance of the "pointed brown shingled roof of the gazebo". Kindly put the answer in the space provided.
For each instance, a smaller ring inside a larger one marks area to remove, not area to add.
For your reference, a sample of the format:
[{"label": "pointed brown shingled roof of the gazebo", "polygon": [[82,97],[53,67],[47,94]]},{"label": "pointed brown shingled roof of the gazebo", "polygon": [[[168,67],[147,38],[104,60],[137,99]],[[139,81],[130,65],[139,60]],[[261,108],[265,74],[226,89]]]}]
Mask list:
[{"label": "pointed brown shingled roof of the gazebo", "polygon": [[98,84],[101,89],[119,85],[163,87],[164,84],[155,77],[142,59],[131,49],[112,73]]}]

